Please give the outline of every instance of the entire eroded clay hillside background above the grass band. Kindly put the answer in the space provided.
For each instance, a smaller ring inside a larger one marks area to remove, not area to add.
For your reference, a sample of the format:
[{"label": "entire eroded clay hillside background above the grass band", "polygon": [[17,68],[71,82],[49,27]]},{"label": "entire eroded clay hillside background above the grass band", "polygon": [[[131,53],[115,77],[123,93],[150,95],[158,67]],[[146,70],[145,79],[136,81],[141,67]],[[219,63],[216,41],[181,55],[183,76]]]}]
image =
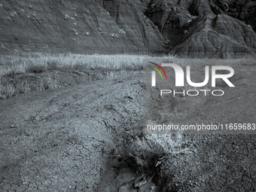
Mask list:
[{"label": "entire eroded clay hillside background above the grass band", "polygon": [[255,56],[255,1],[2,1],[2,53]]}]

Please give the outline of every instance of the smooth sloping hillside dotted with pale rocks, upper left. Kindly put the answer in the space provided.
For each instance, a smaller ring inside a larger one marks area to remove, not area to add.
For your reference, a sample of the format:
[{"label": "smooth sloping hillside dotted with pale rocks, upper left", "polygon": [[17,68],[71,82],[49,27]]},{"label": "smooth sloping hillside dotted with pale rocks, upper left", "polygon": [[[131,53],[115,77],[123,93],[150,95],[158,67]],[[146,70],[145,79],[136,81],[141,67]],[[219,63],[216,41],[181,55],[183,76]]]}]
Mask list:
[{"label": "smooth sloping hillside dotted with pale rocks, upper left", "polygon": [[162,36],[130,1],[2,1],[0,52],[160,52]]}]

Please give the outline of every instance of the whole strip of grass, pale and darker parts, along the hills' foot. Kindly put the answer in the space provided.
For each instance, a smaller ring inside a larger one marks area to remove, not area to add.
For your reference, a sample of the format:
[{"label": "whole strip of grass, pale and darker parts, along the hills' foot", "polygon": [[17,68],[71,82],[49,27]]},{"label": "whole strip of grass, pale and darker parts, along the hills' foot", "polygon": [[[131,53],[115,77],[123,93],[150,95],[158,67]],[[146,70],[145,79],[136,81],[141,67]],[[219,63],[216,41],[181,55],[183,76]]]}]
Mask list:
[{"label": "whole strip of grass, pale and darker parts, along the hills' foot", "polygon": [[[86,81],[120,78],[142,72],[143,59],[174,62],[179,66],[216,65],[216,59],[178,59],[173,56],[80,55],[16,53],[0,57],[0,99],[34,90],[55,89]],[[224,66],[256,65],[255,59],[219,59]],[[66,72],[59,74],[58,72]],[[75,75],[79,76],[75,77]],[[64,77],[65,76],[65,77]],[[73,79],[72,79],[73,78]]]}]

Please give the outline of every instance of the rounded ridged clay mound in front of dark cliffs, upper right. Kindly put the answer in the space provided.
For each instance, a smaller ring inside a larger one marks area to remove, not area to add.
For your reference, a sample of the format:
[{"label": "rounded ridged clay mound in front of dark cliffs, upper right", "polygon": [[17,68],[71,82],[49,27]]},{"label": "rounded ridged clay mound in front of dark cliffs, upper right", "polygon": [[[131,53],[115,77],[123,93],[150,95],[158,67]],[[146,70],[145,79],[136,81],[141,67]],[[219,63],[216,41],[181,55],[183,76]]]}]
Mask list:
[{"label": "rounded ridged clay mound in front of dark cliffs, upper right", "polygon": [[200,16],[179,33],[170,48],[170,53],[178,56],[242,57],[253,55],[256,45],[256,35],[250,27],[224,14]]}]

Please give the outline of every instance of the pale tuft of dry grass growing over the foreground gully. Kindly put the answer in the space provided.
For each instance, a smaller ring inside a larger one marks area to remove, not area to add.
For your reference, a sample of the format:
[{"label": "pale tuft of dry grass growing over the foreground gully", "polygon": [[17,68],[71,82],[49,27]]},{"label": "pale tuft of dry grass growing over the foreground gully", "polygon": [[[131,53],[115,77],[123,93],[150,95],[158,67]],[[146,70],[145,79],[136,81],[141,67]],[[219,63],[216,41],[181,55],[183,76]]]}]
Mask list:
[{"label": "pale tuft of dry grass growing over the foreground gully", "polygon": [[136,137],[127,148],[126,156],[136,163],[140,172],[152,175],[166,157],[190,153],[191,149],[184,147],[185,143],[182,133],[149,134]]}]

